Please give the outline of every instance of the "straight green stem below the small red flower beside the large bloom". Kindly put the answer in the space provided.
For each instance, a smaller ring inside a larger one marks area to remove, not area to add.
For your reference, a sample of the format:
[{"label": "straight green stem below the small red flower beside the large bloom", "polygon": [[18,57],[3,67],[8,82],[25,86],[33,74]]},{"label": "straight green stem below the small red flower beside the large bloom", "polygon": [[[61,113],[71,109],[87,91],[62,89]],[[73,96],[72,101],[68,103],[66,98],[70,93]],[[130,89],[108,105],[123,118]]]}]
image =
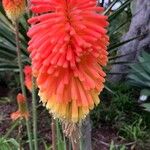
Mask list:
[{"label": "straight green stem below the small red flower beside the large bloom", "polygon": [[34,148],[38,150],[37,143],[37,102],[36,102],[36,83],[35,78],[32,76],[32,110],[33,110],[33,135],[34,135]]}]

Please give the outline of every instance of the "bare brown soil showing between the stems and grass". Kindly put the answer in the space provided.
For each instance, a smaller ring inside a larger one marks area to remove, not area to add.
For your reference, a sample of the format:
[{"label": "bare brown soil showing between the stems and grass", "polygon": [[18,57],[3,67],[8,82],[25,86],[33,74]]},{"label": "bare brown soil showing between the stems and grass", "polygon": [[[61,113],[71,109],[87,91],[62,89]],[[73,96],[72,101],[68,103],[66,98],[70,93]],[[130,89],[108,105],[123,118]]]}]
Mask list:
[{"label": "bare brown soil showing between the stems and grass", "polygon": [[[7,97],[7,89],[0,86],[0,97]],[[29,103],[31,101],[29,100]],[[10,129],[12,125],[12,120],[10,114],[17,110],[17,104],[15,100],[11,101],[0,101],[0,137],[5,135],[7,130]],[[38,108],[38,115],[40,118],[38,120],[38,136],[41,142],[45,141],[46,143],[51,143],[51,123],[50,115],[48,112],[43,109],[43,107]],[[26,132],[24,132],[25,127],[22,129],[22,138],[25,141],[27,139]],[[9,137],[15,138],[18,136],[18,129],[16,128]],[[99,128],[92,129],[92,146],[93,150],[109,150],[109,144],[111,140],[119,142],[117,132],[113,130],[110,126],[104,126]],[[40,150],[44,150],[43,144],[40,144]],[[28,148],[25,148],[28,150]]]}]

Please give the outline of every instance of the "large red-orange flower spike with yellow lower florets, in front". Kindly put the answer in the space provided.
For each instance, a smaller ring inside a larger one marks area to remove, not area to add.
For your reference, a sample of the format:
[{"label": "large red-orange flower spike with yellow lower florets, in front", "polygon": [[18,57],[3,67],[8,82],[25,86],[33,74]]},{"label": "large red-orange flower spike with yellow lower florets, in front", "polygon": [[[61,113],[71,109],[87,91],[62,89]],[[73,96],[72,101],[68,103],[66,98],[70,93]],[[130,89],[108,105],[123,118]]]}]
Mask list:
[{"label": "large red-orange flower spike with yellow lower florets, in front", "polygon": [[107,17],[96,0],[31,0],[28,50],[41,101],[77,123],[99,103],[107,63]]}]

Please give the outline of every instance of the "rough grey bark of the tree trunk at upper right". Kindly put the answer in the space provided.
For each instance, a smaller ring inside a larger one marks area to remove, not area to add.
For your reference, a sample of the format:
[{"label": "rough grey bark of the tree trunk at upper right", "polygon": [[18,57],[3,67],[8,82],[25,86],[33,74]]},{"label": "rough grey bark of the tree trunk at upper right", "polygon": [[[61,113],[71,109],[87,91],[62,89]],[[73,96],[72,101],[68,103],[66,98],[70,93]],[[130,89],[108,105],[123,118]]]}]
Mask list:
[{"label": "rough grey bark of the tree trunk at upper right", "polygon": [[[134,0],[132,9],[132,20],[129,31],[122,37],[122,41],[141,36],[125,45],[117,52],[117,55],[126,55],[116,59],[116,62],[134,62],[142,50],[150,51],[150,0]],[[143,36],[142,36],[143,35]],[[111,73],[128,72],[128,66],[115,64],[112,66]],[[116,82],[124,77],[122,74],[111,75],[109,80]]]}]

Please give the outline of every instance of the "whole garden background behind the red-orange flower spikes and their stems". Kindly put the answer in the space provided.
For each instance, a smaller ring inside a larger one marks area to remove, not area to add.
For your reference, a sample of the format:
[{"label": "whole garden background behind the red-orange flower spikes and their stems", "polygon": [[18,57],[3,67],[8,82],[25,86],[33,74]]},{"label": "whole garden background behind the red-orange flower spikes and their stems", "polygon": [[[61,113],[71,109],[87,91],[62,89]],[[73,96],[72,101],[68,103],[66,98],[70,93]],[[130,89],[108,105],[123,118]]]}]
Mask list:
[{"label": "whole garden background behind the red-orange flower spikes and their stems", "polygon": [[[79,149],[150,150],[150,0],[101,0],[98,5],[105,8],[109,21],[109,62],[101,102],[82,123]],[[23,66],[30,65],[26,35],[30,15],[27,11],[19,22]],[[29,149],[25,122],[20,125],[10,118],[20,92],[15,37],[0,2],[0,150]],[[30,114],[32,96],[27,90]],[[38,149],[50,150],[52,119],[38,96],[36,113]],[[71,150],[59,120],[55,125],[56,149]]]}]

